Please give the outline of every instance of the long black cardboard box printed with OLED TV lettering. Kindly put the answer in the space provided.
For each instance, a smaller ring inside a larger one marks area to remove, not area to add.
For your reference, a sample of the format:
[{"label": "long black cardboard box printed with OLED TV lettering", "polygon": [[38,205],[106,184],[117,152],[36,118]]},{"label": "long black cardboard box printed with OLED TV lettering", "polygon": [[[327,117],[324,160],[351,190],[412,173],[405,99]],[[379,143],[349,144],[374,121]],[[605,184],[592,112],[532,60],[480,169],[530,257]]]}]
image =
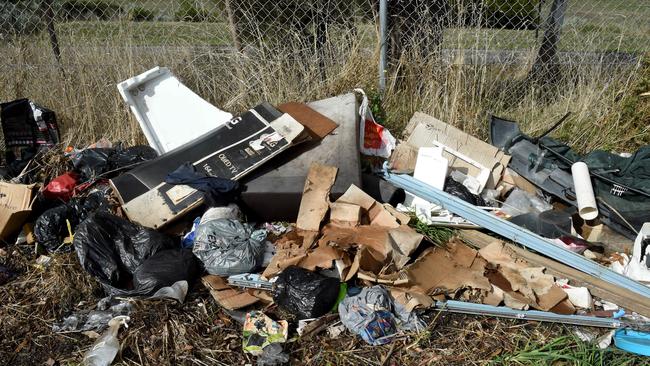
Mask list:
[{"label": "long black cardboard box printed with OLED TV lettering", "polygon": [[131,221],[159,228],[203,202],[203,192],[165,183],[185,162],[211,176],[238,180],[289,148],[304,127],[263,103],[182,147],[111,180]]}]

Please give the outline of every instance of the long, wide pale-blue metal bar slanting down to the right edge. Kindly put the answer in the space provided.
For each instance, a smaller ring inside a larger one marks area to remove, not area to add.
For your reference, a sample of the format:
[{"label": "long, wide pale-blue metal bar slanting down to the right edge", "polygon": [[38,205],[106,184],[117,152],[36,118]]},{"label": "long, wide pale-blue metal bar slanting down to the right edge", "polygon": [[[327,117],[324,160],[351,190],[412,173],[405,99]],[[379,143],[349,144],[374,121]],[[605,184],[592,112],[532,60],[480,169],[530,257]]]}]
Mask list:
[{"label": "long, wide pale-blue metal bar slanting down to the right edge", "polygon": [[[596,276],[605,282],[620,286],[641,296],[650,299],[650,287],[645,286],[626,276],[611,271],[609,268],[587,259],[579,254],[556,246],[541,236],[530,232],[520,226],[500,217],[486,213],[480,208],[454,197],[440,189],[431,187],[419,180],[405,174],[391,174],[386,172],[385,178],[393,185],[435,203],[462,218],[506,237],[524,247],[550,257],[569,267],[584,273]],[[650,300],[649,300],[650,301]]]}]

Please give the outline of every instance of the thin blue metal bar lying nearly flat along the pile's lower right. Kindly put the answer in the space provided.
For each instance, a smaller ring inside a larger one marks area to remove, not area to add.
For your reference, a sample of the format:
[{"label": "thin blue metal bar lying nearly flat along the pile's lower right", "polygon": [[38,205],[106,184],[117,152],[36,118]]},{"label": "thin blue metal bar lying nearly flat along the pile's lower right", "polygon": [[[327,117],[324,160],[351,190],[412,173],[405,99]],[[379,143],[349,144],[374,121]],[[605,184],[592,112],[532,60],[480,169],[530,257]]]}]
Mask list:
[{"label": "thin blue metal bar lying nearly flat along the pile's lower right", "polygon": [[644,327],[650,325],[637,325],[629,321],[614,318],[597,318],[595,316],[586,315],[562,315],[538,310],[515,310],[505,306],[474,304],[471,302],[456,300],[436,301],[436,309],[452,313],[487,315],[500,318],[534,320],[599,328],[636,328],[639,326]]}]

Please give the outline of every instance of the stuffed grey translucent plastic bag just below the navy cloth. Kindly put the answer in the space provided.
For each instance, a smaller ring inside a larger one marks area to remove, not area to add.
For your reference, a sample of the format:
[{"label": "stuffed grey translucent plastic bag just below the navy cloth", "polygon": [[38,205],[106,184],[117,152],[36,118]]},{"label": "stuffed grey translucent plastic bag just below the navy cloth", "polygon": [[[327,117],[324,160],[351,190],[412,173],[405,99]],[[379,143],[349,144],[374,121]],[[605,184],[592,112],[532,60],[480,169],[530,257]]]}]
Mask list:
[{"label": "stuffed grey translucent plastic bag just below the navy cloth", "polygon": [[264,260],[265,238],[266,231],[237,220],[210,220],[196,229],[193,251],[210,274],[255,272]]}]

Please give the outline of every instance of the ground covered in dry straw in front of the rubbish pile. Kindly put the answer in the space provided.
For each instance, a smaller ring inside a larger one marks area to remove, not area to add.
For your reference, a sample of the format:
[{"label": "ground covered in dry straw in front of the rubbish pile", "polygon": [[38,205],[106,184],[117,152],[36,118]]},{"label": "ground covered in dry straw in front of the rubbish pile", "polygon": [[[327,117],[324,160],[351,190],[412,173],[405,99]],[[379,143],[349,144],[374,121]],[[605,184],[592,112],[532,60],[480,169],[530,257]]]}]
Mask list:
[{"label": "ground covered in dry straw in front of the rubbish pile", "polygon": [[[53,263],[41,268],[35,265],[32,250],[14,245],[0,253],[0,264],[16,272],[10,282],[0,286],[0,364],[77,364],[93,339],[81,333],[54,333],[52,325],[75,310],[93,309],[102,290],[81,269],[74,252],[53,255]],[[273,307],[264,311],[271,317],[280,316]],[[284,349],[296,365],[521,364],[521,360],[526,364],[530,349],[571,333],[570,327],[558,324],[437,311],[421,316],[428,324],[425,332],[403,334],[379,347],[369,346],[347,331],[335,339],[327,332],[299,339],[296,323],[290,322],[291,340]],[[242,352],[241,342],[241,326],[197,283],[184,304],[135,301],[129,328],[120,332],[122,348],[114,364],[255,364],[254,357]],[[601,355],[600,359],[616,354]],[[635,363],[632,359],[622,364]]]}]

